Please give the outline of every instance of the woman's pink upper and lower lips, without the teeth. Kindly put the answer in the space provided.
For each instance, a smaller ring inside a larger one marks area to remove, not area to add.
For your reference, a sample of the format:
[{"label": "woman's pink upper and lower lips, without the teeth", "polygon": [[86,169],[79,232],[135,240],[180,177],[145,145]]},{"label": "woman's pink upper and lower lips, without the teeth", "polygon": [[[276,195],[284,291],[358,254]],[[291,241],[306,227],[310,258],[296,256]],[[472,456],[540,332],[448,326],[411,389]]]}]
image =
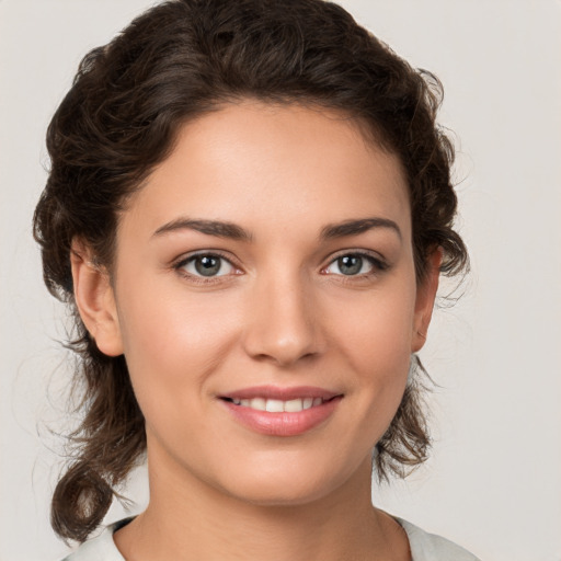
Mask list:
[{"label": "woman's pink upper and lower lips, without the teeth", "polygon": [[[237,390],[221,396],[221,403],[233,417],[245,427],[268,436],[297,436],[327,421],[335,411],[343,396],[322,388],[309,386],[294,388],[260,386]],[[298,398],[321,398],[325,401],[321,403],[321,405],[316,405],[295,413],[270,413],[243,405],[236,405],[231,401],[227,401],[227,399],[252,398],[278,399],[283,401]]]}]

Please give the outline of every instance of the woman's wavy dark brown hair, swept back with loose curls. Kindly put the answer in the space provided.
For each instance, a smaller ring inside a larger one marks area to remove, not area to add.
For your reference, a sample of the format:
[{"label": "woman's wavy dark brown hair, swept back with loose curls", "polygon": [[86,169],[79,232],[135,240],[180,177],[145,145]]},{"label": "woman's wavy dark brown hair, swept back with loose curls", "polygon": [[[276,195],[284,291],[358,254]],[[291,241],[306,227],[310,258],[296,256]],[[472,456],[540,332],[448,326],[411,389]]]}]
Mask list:
[{"label": "woman's wavy dark brown hair, swept back with loose curls", "polygon": [[[75,313],[69,345],[83,391],[75,457],[53,497],[53,527],[64,538],[83,541],[100,524],[146,448],[125,358],[102,354],[76,311],[71,241],[83,240],[111,271],[118,211],[170,153],[181,125],[244,98],[339,110],[366,125],[405,170],[417,282],[436,248],[443,273],[467,266],[453,229],[454,150],[435,123],[442,88],[433,75],[322,0],[174,0],[137,18],[83,58],[53,117],[50,172],[34,217],[45,283]],[[426,458],[419,399],[413,378],[376,447],[382,479]]]}]

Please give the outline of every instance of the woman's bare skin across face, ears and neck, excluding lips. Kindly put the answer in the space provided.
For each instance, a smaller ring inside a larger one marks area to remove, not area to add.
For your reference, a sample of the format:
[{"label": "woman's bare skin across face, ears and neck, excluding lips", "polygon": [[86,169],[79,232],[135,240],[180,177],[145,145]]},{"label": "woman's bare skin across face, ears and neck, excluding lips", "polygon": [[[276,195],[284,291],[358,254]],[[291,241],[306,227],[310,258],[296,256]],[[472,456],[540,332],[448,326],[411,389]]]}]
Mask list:
[{"label": "woman's bare skin across face, ears and neck, excluding lips", "polygon": [[[386,222],[321,236],[365,218]],[[129,199],[112,275],[75,252],[81,316],[101,351],[125,354],[146,417],[151,499],[115,534],[127,560],[410,559],[370,503],[370,456],[424,343],[439,253],[417,285],[397,157],[335,112],[227,105],[184,125]],[[228,261],[196,276],[193,252]],[[358,253],[344,274],[337,257]],[[311,430],[272,436],[220,399],[262,385],[341,399]]]}]

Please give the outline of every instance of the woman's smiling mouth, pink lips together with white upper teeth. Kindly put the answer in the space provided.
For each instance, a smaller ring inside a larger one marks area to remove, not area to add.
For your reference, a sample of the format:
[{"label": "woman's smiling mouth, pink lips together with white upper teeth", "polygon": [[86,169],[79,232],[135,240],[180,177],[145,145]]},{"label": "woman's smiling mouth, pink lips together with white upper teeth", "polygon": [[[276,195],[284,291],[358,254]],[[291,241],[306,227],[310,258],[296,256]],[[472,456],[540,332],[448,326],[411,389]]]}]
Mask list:
[{"label": "woman's smiling mouth, pink lips together with white upper teeth", "polygon": [[321,388],[255,387],[220,396],[233,419],[268,436],[297,436],[327,422],[343,399]]}]

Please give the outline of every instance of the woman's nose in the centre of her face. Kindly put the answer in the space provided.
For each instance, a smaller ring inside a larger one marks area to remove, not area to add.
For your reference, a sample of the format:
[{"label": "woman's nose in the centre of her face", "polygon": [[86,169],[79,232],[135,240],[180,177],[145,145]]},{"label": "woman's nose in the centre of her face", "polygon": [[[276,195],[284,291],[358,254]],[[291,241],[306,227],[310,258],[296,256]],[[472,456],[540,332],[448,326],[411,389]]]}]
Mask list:
[{"label": "woman's nose in the centre of her face", "polygon": [[243,341],[252,358],[286,367],[323,351],[321,313],[310,293],[295,278],[263,279],[253,287]]}]

